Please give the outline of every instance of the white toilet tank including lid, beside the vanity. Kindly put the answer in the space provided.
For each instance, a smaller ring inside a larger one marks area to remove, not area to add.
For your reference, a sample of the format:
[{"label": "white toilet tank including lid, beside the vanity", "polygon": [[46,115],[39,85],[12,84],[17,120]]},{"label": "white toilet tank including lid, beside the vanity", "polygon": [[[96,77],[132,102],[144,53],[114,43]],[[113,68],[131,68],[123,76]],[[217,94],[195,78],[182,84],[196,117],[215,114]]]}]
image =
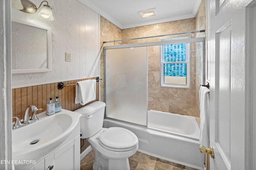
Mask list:
[{"label": "white toilet tank including lid, beside the vanity", "polygon": [[74,111],[82,114],[82,117],[80,117],[82,139],[92,137],[102,129],[105,106],[104,102],[97,101]]}]

